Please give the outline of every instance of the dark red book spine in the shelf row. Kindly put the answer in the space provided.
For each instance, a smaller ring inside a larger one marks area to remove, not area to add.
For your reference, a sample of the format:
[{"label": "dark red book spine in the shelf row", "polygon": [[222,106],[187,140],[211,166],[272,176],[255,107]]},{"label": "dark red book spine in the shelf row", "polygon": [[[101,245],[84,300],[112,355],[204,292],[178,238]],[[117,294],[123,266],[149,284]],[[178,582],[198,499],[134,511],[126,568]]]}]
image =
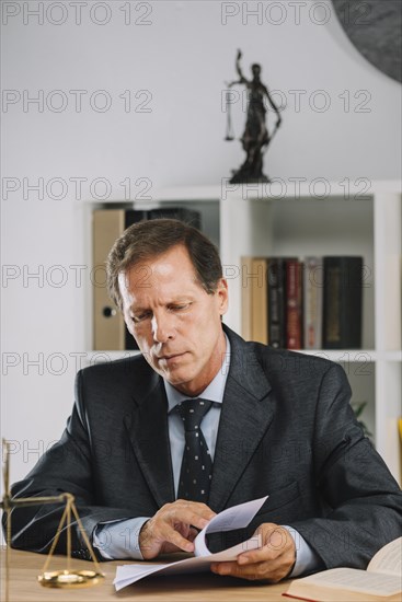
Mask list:
[{"label": "dark red book spine in the shelf row", "polygon": [[302,263],[286,262],[286,346],[302,347]]}]

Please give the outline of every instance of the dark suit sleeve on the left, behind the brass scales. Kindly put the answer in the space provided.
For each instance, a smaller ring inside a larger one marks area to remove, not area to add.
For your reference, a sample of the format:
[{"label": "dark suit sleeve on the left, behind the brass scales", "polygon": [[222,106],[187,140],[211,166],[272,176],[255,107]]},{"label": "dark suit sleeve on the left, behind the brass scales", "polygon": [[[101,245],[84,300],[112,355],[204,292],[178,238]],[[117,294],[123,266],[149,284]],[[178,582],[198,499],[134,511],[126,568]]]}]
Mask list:
[{"label": "dark suit sleeve on the left, behind the brass scales", "polygon": [[[96,506],[93,484],[91,441],[81,395],[82,375],[76,380],[76,404],[61,439],[37,462],[35,467],[13,485],[13,499],[58,496],[68,491],[74,496],[78,513],[90,540],[97,523],[130,518],[129,510]],[[47,553],[64,511],[62,503],[14,508],[11,512],[12,547]],[[4,518],[3,518],[4,523]],[[76,522],[71,529],[71,552],[74,557],[90,559],[90,554]],[[56,547],[66,553],[66,528]],[[97,554],[100,559],[102,556]]]}]

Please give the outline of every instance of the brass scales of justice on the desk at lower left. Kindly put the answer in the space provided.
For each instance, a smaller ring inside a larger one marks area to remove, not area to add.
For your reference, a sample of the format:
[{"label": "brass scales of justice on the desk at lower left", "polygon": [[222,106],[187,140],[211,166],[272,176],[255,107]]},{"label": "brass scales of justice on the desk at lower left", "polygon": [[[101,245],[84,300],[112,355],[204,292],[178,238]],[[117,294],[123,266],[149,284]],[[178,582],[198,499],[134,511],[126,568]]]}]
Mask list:
[{"label": "brass scales of justice on the desk at lower left", "polygon": [[[9,577],[10,577],[10,547],[11,547],[11,510],[22,506],[34,506],[42,503],[65,503],[65,511],[62,512],[60,522],[58,524],[55,539],[51,543],[49,553],[46,557],[46,562],[38,575],[37,580],[41,586],[45,588],[64,588],[64,589],[78,589],[96,586],[104,579],[104,574],[101,571],[100,565],[96,560],[96,556],[93,552],[90,540],[82,525],[81,519],[77,512],[74,497],[71,494],[64,493],[59,496],[46,496],[46,497],[32,497],[32,498],[18,498],[12,499],[10,494],[10,443],[4,439],[2,440],[3,451],[3,482],[4,482],[4,495],[0,501],[0,508],[5,512],[5,598],[4,602],[9,601]],[[78,528],[82,535],[83,541],[90,552],[94,569],[95,570],[76,570],[71,568],[71,514],[77,521]],[[49,565],[55,552],[57,542],[59,541],[61,531],[66,524],[67,534],[67,559],[66,568],[64,570],[49,571]]]}]

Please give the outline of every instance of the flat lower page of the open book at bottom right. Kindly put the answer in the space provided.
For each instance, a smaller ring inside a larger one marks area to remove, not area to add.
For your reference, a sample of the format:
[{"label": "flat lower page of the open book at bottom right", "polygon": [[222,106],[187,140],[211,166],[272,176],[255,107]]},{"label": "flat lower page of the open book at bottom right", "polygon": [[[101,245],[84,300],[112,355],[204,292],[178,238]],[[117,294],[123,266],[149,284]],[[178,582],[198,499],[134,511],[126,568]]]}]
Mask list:
[{"label": "flat lower page of the open book at bottom right", "polygon": [[305,577],[303,581],[328,588],[346,589],[377,595],[394,595],[401,591],[400,577],[367,572],[356,568],[333,568],[311,577]]}]

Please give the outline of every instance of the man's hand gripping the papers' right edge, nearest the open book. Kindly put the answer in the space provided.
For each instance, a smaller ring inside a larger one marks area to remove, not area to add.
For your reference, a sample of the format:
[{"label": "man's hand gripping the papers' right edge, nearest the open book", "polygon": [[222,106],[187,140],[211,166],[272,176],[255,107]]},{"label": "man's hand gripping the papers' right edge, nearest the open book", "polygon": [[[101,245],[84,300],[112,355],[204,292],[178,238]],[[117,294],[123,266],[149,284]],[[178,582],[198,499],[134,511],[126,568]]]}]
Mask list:
[{"label": "man's hand gripping the papers' right edge, nearest the open book", "polygon": [[287,577],[296,562],[292,536],[284,528],[272,522],[263,523],[254,535],[261,535],[262,547],[239,554],[234,563],[214,563],[213,572],[250,580],[276,583]]}]

